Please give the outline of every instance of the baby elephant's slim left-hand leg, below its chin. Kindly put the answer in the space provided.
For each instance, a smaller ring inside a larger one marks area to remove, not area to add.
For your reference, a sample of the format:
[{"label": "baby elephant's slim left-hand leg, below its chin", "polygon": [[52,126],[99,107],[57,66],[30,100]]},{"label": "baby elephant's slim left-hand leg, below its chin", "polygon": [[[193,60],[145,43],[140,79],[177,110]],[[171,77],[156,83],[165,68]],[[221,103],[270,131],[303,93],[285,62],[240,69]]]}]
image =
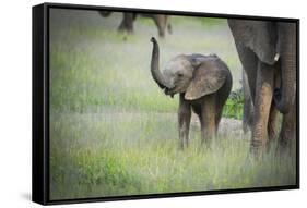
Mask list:
[{"label": "baby elephant's slim left-hand leg, below its chin", "polygon": [[178,109],[178,123],[179,123],[179,140],[180,147],[189,146],[189,130],[191,121],[191,107],[185,100],[184,94],[180,94],[179,109]]}]

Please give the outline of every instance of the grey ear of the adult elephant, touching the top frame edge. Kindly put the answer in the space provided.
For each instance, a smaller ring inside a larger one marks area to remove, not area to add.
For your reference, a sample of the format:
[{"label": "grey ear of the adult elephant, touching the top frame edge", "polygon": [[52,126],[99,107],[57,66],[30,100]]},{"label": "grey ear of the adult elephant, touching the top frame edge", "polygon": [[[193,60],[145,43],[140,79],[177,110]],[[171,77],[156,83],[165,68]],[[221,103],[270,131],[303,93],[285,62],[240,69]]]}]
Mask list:
[{"label": "grey ear of the adult elephant, touching the top frame edge", "polygon": [[228,20],[235,42],[251,49],[262,62],[274,64],[279,59],[276,24],[270,21]]}]

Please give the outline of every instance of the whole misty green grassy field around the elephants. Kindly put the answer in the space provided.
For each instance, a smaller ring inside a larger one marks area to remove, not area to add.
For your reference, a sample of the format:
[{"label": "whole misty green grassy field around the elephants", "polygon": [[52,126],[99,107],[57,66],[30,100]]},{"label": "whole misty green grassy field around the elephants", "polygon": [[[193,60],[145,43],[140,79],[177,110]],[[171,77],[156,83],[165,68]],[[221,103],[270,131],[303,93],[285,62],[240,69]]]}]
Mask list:
[{"label": "whole misty green grassy field around the elephants", "polygon": [[[192,123],[191,145],[179,150],[177,96],[164,96],[150,74],[157,30],[140,19],[134,35],[118,34],[120,19],[50,12],[51,199],[295,184],[295,158],[270,151],[252,160],[240,127],[224,126],[206,148]],[[178,53],[214,52],[240,88],[225,20],[173,16],[172,24],[173,34],[158,40],[162,66]],[[240,119],[241,101],[228,100],[224,117]]]}]

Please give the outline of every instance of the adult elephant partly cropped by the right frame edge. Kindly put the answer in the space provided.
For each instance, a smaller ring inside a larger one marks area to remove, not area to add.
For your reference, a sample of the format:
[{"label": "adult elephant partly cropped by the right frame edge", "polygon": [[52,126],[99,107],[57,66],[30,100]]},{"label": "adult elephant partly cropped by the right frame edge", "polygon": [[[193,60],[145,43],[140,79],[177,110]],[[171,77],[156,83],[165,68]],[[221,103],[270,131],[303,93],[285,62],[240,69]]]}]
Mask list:
[{"label": "adult elephant partly cropped by the right frame edge", "polygon": [[251,151],[276,135],[280,144],[296,135],[296,22],[228,20],[253,103]]}]

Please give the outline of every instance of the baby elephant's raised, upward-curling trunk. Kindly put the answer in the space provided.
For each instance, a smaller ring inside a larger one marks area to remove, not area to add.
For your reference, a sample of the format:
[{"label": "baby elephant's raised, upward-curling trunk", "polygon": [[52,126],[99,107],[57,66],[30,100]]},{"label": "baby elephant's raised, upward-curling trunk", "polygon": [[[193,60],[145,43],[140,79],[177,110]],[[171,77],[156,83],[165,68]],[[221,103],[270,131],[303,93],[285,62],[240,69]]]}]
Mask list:
[{"label": "baby elephant's raised, upward-curling trunk", "polygon": [[169,88],[167,82],[158,70],[158,44],[154,37],[151,38],[153,42],[153,52],[152,52],[152,61],[151,61],[151,72],[153,79],[160,86],[160,88]]}]

